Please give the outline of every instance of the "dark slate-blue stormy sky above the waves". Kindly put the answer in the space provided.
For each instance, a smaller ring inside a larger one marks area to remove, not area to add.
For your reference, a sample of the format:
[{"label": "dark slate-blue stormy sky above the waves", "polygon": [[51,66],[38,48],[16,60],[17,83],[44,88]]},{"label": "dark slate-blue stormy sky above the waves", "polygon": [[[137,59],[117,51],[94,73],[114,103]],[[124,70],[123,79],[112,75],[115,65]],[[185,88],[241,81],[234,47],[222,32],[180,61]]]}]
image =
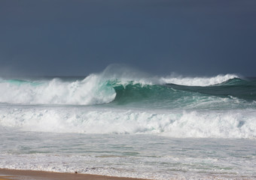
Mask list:
[{"label": "dark slate-blue stormy sky above the waves", "polygon": [[0,0],[0,76],[256,77],[255,0]]}]

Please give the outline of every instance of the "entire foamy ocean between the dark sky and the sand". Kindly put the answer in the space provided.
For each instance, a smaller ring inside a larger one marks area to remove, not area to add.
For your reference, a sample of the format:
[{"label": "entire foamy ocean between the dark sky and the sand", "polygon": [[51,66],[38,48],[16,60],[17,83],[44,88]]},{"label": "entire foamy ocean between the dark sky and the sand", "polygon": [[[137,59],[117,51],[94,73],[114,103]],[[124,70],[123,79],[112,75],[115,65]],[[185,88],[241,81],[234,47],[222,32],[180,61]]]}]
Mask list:
[{"label": "entire foamy ocean between the dark sky and the sand", "polygon": [[0,168],[256,179],[256,79],[0,77]]}]

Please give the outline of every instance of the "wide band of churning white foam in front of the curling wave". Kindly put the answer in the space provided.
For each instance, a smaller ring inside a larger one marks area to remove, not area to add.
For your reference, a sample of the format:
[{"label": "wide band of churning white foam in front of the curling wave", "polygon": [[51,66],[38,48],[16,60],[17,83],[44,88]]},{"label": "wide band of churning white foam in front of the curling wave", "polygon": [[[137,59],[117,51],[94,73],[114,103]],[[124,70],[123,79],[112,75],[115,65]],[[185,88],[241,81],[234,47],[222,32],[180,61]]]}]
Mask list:
[{"label": "wide band of churning white foam in front of the curling wave", "polygon": [[172,137],[256,137],[253,110],[169,111],[86,107],[2,107],[0,125],[56,133],[151,133]]}]

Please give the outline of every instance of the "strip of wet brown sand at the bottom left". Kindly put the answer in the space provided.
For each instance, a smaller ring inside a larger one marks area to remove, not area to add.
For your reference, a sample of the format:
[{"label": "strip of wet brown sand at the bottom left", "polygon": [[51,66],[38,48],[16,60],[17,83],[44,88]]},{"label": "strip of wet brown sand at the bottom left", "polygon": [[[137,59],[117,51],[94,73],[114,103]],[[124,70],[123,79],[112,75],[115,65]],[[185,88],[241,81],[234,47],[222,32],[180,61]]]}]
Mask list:
[{"label": "strip of wet brown sand at the bottom left", "polygon": [[0,180],[142,180],[142,178],[120,178],[105,175],[80,173],[45,172],[32,170],[0,169]]}]

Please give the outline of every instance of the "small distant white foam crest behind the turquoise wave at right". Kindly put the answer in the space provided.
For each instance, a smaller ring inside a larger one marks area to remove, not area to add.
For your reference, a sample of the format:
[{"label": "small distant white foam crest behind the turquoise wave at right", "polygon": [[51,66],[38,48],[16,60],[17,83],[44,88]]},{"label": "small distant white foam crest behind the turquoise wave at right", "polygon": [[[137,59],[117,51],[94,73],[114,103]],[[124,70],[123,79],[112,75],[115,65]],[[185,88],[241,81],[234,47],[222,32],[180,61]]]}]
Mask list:
[{"label": "small distant white foam crest behind the turquoise wave at right", "polygon": [[212,86],[224,83],[227,80],[239,78],[235,74],[218,75],[216,77],[177,77],[169,76],[160,78],[162,83],[172,83],[183,86]]}]

